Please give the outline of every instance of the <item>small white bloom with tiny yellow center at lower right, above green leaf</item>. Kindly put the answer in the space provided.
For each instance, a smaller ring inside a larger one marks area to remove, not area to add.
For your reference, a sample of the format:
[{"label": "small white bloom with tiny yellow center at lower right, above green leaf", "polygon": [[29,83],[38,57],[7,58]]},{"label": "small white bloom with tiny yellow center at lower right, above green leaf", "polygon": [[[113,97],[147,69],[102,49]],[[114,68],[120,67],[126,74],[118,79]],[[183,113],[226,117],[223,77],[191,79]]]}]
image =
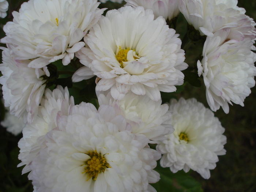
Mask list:
[{"label": "small white bloom with tiny yellow center at lower right, above green leaf", "polygon": [[170,167],[173,173],[192,169],[203,178],[210,178],[210,169],[216,167],[218,155],[226,154],[223,148],[226,136],[222,135],[225,129],[214,113],[194,98],[172,99],[169,109],[173,112],[170,123],[175,131],[157,145],[163,154],[161,166]]}]

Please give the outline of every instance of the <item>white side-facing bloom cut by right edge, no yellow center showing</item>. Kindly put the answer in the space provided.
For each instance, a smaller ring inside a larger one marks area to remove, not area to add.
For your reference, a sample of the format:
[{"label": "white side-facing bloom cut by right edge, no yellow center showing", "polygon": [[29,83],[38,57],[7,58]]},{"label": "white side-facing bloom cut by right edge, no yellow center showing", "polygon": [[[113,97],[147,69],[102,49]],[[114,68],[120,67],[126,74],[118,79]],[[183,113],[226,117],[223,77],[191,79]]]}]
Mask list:
[{"label": "white side-facing bloom cut by right edge, no yellow center showing", "polygon": [[251,51],[251,38],[230,39],[230,29],[219,30],[207,37],[203,59],[197,61],[198,75],[203,75],[206,98],[211,110],[222,107],[229,112],[231,102],[244,106],[244,99],[255,86],[256,53]]}]

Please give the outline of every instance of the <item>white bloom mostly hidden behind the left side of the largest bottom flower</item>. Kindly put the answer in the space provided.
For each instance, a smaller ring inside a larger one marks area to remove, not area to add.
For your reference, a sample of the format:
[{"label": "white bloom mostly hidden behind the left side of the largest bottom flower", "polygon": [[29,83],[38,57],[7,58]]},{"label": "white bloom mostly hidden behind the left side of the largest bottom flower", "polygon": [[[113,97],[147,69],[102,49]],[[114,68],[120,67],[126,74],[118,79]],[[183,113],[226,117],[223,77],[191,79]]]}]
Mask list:
[{"label": "white bloom mostly hidden behind the left side of the largest bottom flower", "polygon": [[72,96],[69,98],[67,87],[63,89],[57,86],[53,91],[45,90],[45,97],[39,106],[37,117],[33,123],[26,124],[22,132],[23,138],[18,143],[19,159],[22,161],[18,166],[26,165],[22,174],[31,171],[29,164],[40,149],[45,147],[45,134],[57,127],[57,114],[68,115],[70,106],[74,105],[74,98]]}]

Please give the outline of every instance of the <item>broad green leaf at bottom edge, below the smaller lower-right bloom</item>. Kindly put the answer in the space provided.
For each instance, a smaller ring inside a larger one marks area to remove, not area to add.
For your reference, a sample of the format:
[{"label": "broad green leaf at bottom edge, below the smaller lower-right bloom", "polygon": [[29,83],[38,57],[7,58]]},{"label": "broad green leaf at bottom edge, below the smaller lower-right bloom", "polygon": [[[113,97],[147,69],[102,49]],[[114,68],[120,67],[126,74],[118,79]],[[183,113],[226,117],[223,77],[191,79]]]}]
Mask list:
[{"label": "broad green leaf at bottom edge, below the smaller lower-right bloom", "polygon": [[155,168],[160,174],[160,181],[151,184],[158,192],[203,192],[202,185],[183,170],[172,173],[159,165]]}]

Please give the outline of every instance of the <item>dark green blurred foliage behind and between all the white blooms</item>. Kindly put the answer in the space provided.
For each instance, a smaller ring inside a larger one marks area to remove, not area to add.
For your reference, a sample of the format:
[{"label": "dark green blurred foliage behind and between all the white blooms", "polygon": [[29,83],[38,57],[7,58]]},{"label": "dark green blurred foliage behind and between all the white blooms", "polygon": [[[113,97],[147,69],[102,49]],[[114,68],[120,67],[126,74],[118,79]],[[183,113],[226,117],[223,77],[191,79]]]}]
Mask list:
[{"label": "dark green blurred foliage behind and between all the white blooms", "polygon": [[[0,18],[0,38],[4,37],[3,26],[12,20],[12,11],[18,11],[20,5],[25,0],[8,0],[9,10],[6,18]],[[124,3],[123,3],[124,4]],[[119,8],[123,4],[107,2],[99,7],[108,7],[109,10]],[[238,0],[238,7],[244,7],[246,15],[256,20],[256,1]],[[105,11],[106,12],[106,11]],[[182,19],[182,18],[181,18]],[[177,31],[182,33],[184,26],[177,25]],[[180,37],[184,38],[185,34]],[[1,44],[0,46],[5,46]],[[1,54],[1,53],[0,53]],[[192,63],[192,60],[186,60]],[[58,70],[68,70],[61,68],[63,65],[55,63]],[[191,66],[191,65],[190,65]],[[59,68],[60,67],[60,68]],[[71,71],[73,71],[72,69]],[[162,100],[169,102],[170,98],[185,99],[195,97],[208,107],[205,89],[200,87],[203,84],[201,78],[197,78],[193,73],[193,67],[184,71],[185,83],[177,86],[175,93],[162,93]],[[97,105],[94,92],[94,79],[80,83],[70,83],[70,76],[59,76],[63,78],[57,80],[56,84],[69,87],[70,95],[76,95],[75,102],[91,102]],[[81,88],[82,86],[82,88]],[[91,91],[87,91],[91,90]],[[227,136],[225,149],[226,155],[219,156],[219,162],[214,170],[211,170],[211,177],[204,180],[198,173],[183,170],[176,174],[170,172],[169,168],[158,166],[155,170],[161,173],[161,180],[153,184],[158,192],[255,192],[256,191],[256,87],[251,89],[252,93],[245,99],[244,107],[240,105],[230,106],[229,114],[225,114],[222,109],[215,112],[222,126],[226,128],[224,135]],[[0,97],[2,97],[0,93]],[[0,120],[4,119],[4,106],[0,102]],[[17,167],[19,148],[18,141],[22,134],[14,136],[0,126],[0,192],[32,192],[33,186],[27,179],[28,174],[21,175],[23,167]],[[151,146],[154,147],[154,146]]]}]

